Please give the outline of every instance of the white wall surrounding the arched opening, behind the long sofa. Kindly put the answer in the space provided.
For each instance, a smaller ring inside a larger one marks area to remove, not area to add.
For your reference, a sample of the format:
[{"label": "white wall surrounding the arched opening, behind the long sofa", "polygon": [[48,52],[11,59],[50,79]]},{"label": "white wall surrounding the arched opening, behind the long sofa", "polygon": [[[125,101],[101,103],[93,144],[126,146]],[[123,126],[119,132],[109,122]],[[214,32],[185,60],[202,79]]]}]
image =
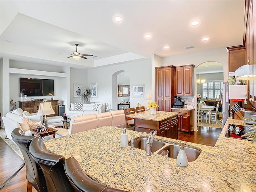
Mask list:
[{"label": "white wall surrounding the arched opening, behind the long sofa", "polygon": [[[98,97],[91,98],[91,101],[108,103],[111,105],[113,110],[117,110],[117,104],[113,105],[112,102],[112,97],[117,95],[113,94],[112,75],[119,71],[128,72],[130,76],[130,88],[132,88],[132,85],[145,85],[144,98],[133,98],[130,90],[130,107],[136,107],[137,103],[140,103],[142,106],[147,106],[148,102],[146,100],[146,95],[152,93],[150,59],[126,64],[118,64],[115,66],[89,69],[88,86],[90,86],[91,83],[97,83],[98,86]],[[115,84],[117,84],[117,82],[115,82]]]}]

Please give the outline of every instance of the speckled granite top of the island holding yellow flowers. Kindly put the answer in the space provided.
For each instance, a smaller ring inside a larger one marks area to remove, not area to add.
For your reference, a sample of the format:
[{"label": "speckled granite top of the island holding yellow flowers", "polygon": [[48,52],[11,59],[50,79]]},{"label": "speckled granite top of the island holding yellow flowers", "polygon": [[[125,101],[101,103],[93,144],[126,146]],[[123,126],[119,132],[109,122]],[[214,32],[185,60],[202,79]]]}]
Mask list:
[{"label": "speckled granite top of the island holding yellow flowers", "polygon": [[138,118],[138,119],[145,119],[145,120],[152,120],[152,121],[162,121],[166,118],[171,118],[178,114],[179,113],[175,113],[175,112],[156,111],[156,115],[150,115],[150,111],[144,111],[144,112],[129,114],[126,116],[131,118]]}]

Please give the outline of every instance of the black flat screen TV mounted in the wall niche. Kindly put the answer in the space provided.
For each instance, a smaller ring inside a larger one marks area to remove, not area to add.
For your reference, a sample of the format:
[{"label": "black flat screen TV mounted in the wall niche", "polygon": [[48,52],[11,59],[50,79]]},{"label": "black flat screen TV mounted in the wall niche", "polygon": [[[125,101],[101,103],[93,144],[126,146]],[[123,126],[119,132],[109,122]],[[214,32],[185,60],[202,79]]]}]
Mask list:
[{"label": "black flat screen TV mounted in the wall niche", "polygon": [[20,93],[27,96],[54,96],[54,80],[20,78]]}]

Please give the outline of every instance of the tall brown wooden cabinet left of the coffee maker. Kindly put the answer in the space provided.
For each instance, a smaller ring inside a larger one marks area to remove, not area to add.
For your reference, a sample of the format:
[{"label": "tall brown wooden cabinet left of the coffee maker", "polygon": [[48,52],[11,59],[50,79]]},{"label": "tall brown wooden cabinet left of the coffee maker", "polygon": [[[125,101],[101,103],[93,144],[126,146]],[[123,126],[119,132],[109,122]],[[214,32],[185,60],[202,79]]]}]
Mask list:
[{"label": "tall brown wooden cabinet left of the coffee maker", "polygon": [[171,111],[174,105],[174,66],[156,67],[156,102],[158,111]]}]

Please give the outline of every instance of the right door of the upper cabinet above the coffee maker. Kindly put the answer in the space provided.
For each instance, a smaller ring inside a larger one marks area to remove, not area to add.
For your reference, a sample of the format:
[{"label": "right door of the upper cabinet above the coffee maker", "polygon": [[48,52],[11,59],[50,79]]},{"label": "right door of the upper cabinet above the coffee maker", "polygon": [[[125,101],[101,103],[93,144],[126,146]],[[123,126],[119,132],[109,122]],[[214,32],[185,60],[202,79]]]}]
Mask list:
[{"label": "right door of the upper cabinet above the coffee maker", "polygon": [[194,68],[184,67],[183,73],[183,95],[192,96],[192,94],[194,95]]}]

